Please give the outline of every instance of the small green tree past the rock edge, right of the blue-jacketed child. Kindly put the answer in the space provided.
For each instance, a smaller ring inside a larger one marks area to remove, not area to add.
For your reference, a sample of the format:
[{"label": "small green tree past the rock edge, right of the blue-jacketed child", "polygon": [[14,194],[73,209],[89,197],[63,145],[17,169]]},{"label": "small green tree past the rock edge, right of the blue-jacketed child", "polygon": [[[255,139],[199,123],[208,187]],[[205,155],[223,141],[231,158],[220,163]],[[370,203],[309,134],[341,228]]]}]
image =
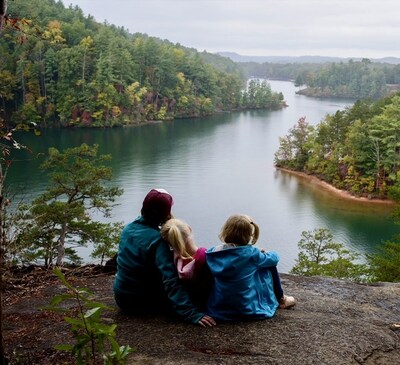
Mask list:
[{"label": "small green tree past the rock edge, right of the blue-jacketed child", "polygon": [[365,280],[366,266],[354,263],[357,255],[346,250],[342,243],[334,242],[328,229],[303,231],[301,236],[298,243],[300,252],[290,271],[292,274]]}]

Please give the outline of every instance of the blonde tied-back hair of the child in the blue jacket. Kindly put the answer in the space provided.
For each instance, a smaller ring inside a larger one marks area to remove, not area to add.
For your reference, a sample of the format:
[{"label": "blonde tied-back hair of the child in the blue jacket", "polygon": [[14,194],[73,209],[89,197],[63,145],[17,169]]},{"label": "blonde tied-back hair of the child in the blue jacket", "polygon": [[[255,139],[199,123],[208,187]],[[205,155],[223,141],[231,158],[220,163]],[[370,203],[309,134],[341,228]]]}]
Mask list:
[{"label": "blonde tied-back hair of the child in the blue jacket", "polygon": [[248,215],[235,214],[228,218],[221,229],[219,238],[225,243],[237,246],[254,245],[260,235],[260,228]]}]

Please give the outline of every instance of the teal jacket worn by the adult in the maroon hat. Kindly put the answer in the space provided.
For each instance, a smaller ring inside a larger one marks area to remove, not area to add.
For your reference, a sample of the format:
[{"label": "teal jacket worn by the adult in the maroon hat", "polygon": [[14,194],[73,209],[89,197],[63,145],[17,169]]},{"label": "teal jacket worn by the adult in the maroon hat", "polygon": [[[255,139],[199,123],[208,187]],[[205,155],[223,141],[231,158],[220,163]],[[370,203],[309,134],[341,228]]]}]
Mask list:
[{"label": "teal jacket worn by the adult in the maroon hat", "polygon": [[[183,319],[197,323],[204,313],[193,305],[178,278],[173,251],[161,238],[158,228],[143,217],[129,223],[122,231],[117,258],[114,293],[118,300],[128,300],[129,308],[142,310],[170,305]],[[118,303],[120,304],[120,303]]]}]

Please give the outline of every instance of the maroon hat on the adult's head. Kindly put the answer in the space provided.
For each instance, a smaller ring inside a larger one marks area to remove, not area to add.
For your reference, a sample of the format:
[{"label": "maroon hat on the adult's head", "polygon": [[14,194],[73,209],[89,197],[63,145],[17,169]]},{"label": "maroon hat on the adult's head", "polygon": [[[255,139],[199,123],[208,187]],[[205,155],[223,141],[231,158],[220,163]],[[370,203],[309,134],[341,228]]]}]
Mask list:
[{"label": "maroon hat on the adult's head", "polygon": [[142,216],[151,224],[164,223],[174,204],[172,196],[164,189],[151,189],[143,200]]}]

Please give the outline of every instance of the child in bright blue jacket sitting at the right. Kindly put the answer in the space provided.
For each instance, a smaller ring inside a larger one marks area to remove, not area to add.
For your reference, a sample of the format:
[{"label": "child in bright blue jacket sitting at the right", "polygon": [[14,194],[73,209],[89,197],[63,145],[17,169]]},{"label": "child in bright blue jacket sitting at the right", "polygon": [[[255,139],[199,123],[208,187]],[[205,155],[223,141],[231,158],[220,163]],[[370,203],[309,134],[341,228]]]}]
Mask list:
[{"label": "child in bright blue jacket sitting at the right", "polygon": [[233,215],[222,227],[222,245],[209,249],[207,264],[214,276],[208,313],[219,320],[270,318],[277,308],[291,308],[277,270],[279,257],[253,245],[259,227],[248,215]]}]

